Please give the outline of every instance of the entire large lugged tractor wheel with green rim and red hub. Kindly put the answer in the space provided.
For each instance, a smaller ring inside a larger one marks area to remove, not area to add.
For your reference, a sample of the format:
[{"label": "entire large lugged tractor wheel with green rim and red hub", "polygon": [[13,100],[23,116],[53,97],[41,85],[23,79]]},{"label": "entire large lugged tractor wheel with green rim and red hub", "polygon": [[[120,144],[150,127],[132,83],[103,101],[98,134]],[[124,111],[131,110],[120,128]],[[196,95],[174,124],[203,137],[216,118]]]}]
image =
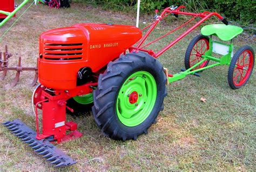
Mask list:
[{"label": "entire large lugged tractor wheel with green rim and red hub", "polygon": [[120,55],[107,64],[93,91],[97,126],[114,140],[136,140],[146,134],[164,109],[165,83],[163,66],[149,54]]}]

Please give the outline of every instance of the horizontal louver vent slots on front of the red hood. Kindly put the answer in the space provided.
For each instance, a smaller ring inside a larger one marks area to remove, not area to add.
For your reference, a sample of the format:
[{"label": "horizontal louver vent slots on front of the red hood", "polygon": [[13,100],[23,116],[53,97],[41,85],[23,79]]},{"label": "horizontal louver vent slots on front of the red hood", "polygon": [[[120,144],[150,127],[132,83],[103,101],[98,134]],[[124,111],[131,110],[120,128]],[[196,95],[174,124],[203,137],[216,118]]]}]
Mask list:
[{"label": "horizontal louver vent slots on front of the red hood", "polygon": [[44,44],[45,60],[79,60],[82,59],[83,44]]}]

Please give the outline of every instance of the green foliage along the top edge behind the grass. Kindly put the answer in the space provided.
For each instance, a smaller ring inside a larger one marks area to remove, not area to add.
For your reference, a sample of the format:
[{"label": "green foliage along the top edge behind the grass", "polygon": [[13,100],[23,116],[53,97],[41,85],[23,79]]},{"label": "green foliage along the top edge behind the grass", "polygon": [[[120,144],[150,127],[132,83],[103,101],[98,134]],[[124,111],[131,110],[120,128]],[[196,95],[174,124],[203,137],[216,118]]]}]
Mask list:
[{"label": "green foliage along the top edge behind the grass", "polygon": [[[101,5],[104,9],[135,10],[137,0],[73,0],[79,2]],[[215,11],[226,18],[240,21],[244,24],[255,23],[256,1],[248,0],[142,0],[140,9],[144,13],[153,12],[155,9],[164,9],[171,5],[185,5],[190,12]]]}]

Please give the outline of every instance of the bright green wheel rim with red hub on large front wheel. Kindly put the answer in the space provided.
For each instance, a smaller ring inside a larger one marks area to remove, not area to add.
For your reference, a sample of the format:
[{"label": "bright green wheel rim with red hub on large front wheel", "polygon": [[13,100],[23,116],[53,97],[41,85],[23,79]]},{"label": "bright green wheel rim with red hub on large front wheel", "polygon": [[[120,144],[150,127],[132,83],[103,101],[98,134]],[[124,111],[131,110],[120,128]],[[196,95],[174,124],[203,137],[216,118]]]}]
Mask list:
[{"label": "bright green wheel rim with red hub on large front wheel", "polygon": [[149,117],[157,98],[157,83],[147,71],[137,71],[124,82],[117,96],[116,111],[121,123],[133,127]]}]

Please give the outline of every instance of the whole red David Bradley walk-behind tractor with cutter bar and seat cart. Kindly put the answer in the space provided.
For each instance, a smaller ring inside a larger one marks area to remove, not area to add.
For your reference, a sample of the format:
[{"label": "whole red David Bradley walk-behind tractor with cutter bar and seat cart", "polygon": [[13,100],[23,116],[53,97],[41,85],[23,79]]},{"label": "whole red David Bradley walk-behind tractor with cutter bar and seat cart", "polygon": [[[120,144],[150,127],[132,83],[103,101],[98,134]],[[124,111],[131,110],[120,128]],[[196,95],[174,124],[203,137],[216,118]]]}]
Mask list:
[{"label": "whole red David Bradley walk-behind tractor with cutter bar and seat cart", "polygon": [[[160,15],[157,13],[154,23],[143,29],[149,28],[144,36],[143,30],[137,27],[112,24],[77,24],[44,32],[39,38],[38,77],[41,84],[32,96],[37,131],[18,119],[4,125],[52,164],[69,166],[75,161],[51,144],[82,136],[76,123],[66,121],[66,110],[77,114],[92,109],[97,126],[107,137],[136,140],[147,133],[164,109],[166,83],[190,74],[200,76],[201,70],[225,64],[230,66],[228,83],[232,89],[246,84],[252,73],[254,52],[251,47],[244,46],[233,54],[232,42],[242,29],[228,25],[218,13],[189,13],[180,11],[181,8],[184,6],[171,6]],[[178,28],[197,17],[201,19],[158,53],[145,49],[178,29],[143,46],[159,21],[169,15],[192,16]],[[211,16],[218,17],[224,24],[203,27],[202,34],[188,45],[186,69],[168,74],[157,60],[158,56]],[[231,41],[231,44],[213,40],[213,36]],[[214,58],[212,52],[223,56]],[[208,65],[210,60],[215,63]],[[41,118],[38,117],[39,109],[42,110]],[[71,132],[66,134],[68,130]]]}]

